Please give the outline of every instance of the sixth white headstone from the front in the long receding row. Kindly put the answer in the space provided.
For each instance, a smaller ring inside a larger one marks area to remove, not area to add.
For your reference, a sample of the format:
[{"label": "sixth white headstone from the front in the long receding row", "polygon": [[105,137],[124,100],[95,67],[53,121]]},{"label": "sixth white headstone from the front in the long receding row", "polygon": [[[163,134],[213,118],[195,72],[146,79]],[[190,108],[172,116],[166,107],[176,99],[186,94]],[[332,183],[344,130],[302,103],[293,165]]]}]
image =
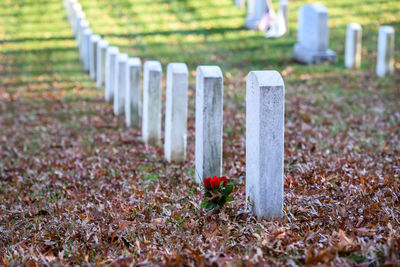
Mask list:
[{"label": "sixth white headstone from the front in the long receding row", "polygon": [[115,87],[114,87],[114,115],[124,112],[125,91],[128,80],[128,54],[120,53],[117,58],[115,68]]}]

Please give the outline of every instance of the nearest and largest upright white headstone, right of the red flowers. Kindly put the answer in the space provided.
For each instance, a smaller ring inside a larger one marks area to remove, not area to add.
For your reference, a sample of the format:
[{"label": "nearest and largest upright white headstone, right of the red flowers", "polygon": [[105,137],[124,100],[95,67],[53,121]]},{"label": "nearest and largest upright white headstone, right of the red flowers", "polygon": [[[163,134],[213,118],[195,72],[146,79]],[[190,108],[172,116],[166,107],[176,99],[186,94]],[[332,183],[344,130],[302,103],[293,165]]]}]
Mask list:
[{"label": "nearest and largest upright white headstone, right of the red flowers", "polygon": [[247,76],[246,202],[258,218],[282,216],[284,95],[278,72]]}]

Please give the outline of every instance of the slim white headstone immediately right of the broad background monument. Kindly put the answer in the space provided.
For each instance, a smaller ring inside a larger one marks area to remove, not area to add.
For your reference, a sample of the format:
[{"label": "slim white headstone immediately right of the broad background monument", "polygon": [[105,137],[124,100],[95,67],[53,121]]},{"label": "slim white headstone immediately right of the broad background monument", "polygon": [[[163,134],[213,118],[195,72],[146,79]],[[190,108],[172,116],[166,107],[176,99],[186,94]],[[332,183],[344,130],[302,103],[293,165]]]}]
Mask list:
[{"label": "slim white headstone immediately right of the broad background monument", "polygon": [[346,29],[344,64],[348,69],[358,69],[361,64],[361,25],[350,23]]}]

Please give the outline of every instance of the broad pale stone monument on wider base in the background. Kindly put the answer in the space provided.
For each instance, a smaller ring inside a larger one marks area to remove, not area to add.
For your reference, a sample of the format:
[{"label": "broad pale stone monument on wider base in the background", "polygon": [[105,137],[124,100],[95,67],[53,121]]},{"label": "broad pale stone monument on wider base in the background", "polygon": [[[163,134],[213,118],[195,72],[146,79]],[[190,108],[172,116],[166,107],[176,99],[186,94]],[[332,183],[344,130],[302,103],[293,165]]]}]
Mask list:
[{"label": "broad pale stone monument on wider base in the background", "polygon": [[297,40],[294,46],[296,60],[306,64],[336,61],[336,53],[328,48],[328,9],[324,5],[315,3],[300,8]]}]

